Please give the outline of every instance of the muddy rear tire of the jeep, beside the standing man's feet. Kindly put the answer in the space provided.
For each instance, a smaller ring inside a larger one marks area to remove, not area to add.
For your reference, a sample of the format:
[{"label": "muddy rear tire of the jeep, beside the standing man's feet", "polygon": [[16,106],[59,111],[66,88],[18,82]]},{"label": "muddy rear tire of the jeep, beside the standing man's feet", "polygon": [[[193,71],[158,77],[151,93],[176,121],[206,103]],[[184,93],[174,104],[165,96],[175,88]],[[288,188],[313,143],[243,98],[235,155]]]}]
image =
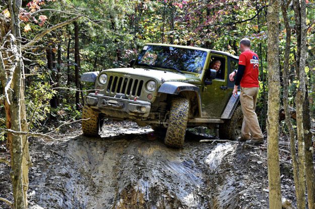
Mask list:
[{"label": "muddy rear tire of the jeep, beside the standing man's feet", "polygon": [[219,126],[219,136],[221,140],[237,140],[241,135],[243,123],[243,113],[240,105],[236,107],[231,119],[226,120]]}]

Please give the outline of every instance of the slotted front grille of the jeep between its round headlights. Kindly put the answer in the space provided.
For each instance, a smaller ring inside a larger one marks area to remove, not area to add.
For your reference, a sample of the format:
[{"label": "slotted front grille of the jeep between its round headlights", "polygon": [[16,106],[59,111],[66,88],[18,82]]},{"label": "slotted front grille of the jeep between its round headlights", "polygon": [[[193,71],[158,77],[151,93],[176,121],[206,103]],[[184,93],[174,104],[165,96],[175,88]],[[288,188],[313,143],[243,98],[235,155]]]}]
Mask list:
[{"label": "slotted front grille of the jeep between its round headlights", "polygon": [[141,96],[141,91],[143,87],[143,80],[110,76],[106,92],[107,93],[121,93],[126,96]]}]

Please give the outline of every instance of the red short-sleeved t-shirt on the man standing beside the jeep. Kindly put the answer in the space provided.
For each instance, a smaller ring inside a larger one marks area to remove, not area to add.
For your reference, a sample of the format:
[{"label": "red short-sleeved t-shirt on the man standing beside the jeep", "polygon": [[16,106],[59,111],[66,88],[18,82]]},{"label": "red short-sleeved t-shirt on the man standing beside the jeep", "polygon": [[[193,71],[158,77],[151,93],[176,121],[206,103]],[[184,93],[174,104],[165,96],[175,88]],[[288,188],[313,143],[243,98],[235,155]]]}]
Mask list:
[{"label": "red short-sleeved t-shirt on the man standing beside the jeep", "polygon": [[240,81],[240,86],[244,88],[259,87],[258,55],[250,50],[244,51],[239,55],[238,64],[245,65],[245,71]]}]

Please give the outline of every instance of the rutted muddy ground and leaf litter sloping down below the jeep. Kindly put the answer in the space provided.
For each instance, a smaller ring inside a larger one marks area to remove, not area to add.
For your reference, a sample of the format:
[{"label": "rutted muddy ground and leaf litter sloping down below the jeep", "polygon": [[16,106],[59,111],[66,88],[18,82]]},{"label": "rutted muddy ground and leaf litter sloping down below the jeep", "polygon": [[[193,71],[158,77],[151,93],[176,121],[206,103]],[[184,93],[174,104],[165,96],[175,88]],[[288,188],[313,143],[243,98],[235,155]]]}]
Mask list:
[{"label": "rutted muddy ground and leaf litter sloping down below the jeep", "polygon": [[[133,122],[103,130],[89,138],[75,124],[55,140],[30,139],[29,208],[268,208],[266,142],[205,143],[217,138],[187,131],[184,148],[170,149],[165,133]],[[290,154],[280,149],[282,195],[295,207]],[[0,197],[12,200],[9,173],[1,163]]]}]

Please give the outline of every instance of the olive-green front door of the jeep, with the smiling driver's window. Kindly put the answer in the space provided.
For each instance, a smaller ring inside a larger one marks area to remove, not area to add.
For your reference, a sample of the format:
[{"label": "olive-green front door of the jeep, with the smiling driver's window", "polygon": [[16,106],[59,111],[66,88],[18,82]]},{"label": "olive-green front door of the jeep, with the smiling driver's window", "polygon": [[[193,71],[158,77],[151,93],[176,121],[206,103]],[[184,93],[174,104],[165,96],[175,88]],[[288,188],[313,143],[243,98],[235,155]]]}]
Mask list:
[{"label": "olive-green front door of the jeep, with the smiling driver's window", "polygon": [[[228,56],[212,53],[208,68],[210,68],[211,64],[216,60],[221,61],[221,72],[217,73],[217,78],[212,80],[212,84],[204,86],[203,92],[201,93],[203,118],[221,118],[224,108],[233,92],[231,84],[228,82],[228,75],[230,73],[228,71],[233,71],[233,69],[229,69]],[[206,77],[207,75],[203,79],[204,82],[207,79]]]}]

